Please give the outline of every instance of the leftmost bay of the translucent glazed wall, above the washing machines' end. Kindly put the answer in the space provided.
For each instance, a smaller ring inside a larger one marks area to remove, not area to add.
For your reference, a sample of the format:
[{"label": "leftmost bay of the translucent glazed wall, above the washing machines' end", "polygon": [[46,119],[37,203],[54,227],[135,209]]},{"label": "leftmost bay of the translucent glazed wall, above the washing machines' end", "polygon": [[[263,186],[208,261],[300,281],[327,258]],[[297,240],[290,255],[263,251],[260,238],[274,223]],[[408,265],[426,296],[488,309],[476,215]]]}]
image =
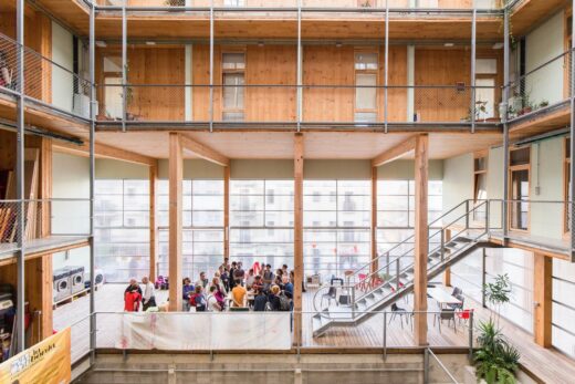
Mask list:
[{"label": "leftmost bay of the translucent glazed wall, above the washing machines' end", "polygon": [[95,181],[96,268],[106,281],[125,282],[149,272],[148,180]]}]

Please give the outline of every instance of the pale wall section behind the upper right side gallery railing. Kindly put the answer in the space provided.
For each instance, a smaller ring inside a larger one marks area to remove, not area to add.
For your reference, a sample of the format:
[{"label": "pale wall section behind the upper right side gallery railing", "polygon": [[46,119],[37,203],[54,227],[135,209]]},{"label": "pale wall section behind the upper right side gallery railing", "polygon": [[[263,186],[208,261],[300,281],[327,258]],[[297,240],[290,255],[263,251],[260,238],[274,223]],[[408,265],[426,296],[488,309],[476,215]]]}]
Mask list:
[{"label": "pale wall section behind the upper right side gallery railing", "polygon": [[[560,11],[525,37],[525,71],[529,73],[539,65],[564,52],[564,11]],[[543,100],[554,104],[563,97],[563,60],[527,76],[525,92],[531,93],[532,103]]]}]

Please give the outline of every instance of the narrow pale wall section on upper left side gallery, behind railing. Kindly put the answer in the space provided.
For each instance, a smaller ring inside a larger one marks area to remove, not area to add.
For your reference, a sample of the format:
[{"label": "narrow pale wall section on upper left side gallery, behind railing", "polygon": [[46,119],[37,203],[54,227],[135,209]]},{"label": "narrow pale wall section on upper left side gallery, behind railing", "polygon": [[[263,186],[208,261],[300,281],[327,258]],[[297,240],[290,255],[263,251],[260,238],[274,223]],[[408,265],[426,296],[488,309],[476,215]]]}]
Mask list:
[{"label": "narrow pale wall section on upper left side gallery, behind railing", "polygon": [[[69,71],[73,70],[74,42],[72,34],[52,22],[52,61]],[[72,111],[74,97],[74,76],[63,69],[52,65],[52,104]]]}]

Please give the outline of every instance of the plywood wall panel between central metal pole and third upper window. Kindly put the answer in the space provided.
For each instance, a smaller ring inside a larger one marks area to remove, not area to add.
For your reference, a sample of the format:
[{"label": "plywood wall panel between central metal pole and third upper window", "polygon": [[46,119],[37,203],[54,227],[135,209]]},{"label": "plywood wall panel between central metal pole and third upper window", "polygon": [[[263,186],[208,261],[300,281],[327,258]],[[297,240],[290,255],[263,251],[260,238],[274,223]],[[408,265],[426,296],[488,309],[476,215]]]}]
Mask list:
[{"label": "plywood wall panel between central metal pole and third upper window", "polygon": [[[354,85],[352,46],[305,46],[303,50],[305,85]],[[304,89],[303,120],[306,122],[352,122],[354,95],[347,89]]]}]

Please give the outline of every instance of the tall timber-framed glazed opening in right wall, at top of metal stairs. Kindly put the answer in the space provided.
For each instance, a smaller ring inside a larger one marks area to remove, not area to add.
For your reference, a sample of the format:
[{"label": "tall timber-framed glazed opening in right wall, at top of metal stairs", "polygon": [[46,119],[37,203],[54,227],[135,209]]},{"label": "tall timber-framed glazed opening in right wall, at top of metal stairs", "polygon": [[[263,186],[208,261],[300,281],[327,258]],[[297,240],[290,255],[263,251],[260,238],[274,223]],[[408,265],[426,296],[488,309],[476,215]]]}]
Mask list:
[{"label": "tall timber-framed glazed opening in right wall, at top of metal stairs", "polygon": [[510,228],[529,230],[531,147],[510,153]]}]

